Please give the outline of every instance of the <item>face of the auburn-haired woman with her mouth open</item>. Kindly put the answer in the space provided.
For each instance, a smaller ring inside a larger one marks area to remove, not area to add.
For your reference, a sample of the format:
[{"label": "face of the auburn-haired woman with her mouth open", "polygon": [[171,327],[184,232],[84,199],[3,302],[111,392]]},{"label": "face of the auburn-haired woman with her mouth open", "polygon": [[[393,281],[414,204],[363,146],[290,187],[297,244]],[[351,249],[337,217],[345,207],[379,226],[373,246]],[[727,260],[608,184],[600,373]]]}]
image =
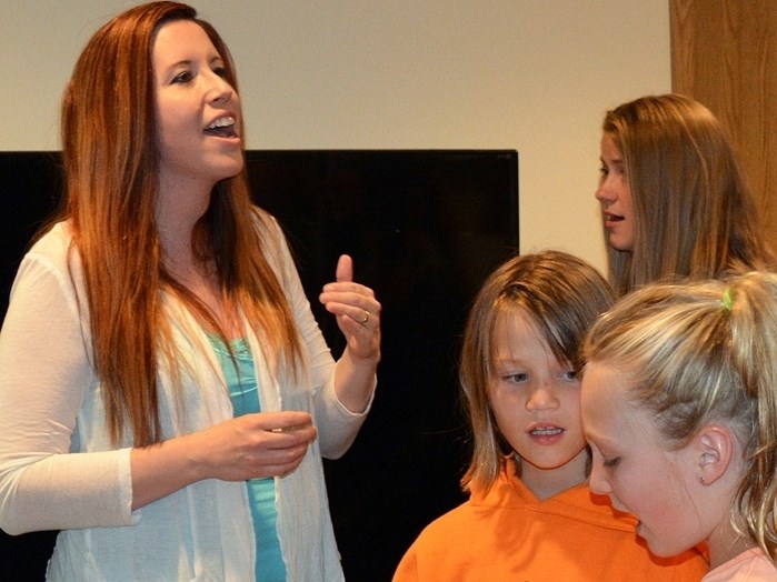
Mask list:
[{"label": "face of the auburn-haired woman with her mouth open", "polygon": [[162,184],[209,191],[242,169],[240,102],[206,31],[189,20],[163,24],[153,43]]}]

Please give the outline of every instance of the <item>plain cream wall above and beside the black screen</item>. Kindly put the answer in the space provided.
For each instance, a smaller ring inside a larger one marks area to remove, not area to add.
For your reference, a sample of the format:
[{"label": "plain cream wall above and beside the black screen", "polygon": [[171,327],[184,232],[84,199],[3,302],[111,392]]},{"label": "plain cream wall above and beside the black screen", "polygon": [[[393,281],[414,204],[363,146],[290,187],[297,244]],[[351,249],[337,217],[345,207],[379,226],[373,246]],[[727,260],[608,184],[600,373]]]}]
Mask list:
[{"label": "plain cream wall above and beside the black screen", "polygon": [[[670,90],[667,0],[191,0],[229,43],[252,149],[508,148],[520,244],[605,269],[605,111]],[[0,150],[59,149],[78,53],[127,0],[0,0]]]}]

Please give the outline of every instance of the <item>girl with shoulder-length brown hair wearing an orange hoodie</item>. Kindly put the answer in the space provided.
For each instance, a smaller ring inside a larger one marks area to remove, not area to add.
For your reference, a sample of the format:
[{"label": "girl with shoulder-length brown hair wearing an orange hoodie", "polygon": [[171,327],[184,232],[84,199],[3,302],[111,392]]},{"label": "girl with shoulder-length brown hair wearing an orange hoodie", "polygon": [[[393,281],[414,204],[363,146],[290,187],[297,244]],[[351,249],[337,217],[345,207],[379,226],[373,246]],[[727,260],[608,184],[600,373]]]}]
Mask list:
[{"label": "girl with shoulder-length brown hair wearing an orange hoodie", "polygon": [[634,519],[588,490],[578,343],[612,300],[595,269],[557,251],[516,257],[487,280],[460,362],[470,498],[421,532],[396,582],[698,582],[706,572],[697,552],[651,555]]}]

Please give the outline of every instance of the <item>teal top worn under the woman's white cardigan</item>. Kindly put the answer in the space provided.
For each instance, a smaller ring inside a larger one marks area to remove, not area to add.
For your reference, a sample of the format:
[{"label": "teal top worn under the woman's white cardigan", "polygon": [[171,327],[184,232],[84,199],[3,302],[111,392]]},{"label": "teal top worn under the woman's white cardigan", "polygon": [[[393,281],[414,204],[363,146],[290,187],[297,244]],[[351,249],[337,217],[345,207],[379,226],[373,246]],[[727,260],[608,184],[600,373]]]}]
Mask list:
[{"label": "teal top worn under the woman's white cardigan", "polygon": [[[235,362],[232,362],[223,341],[213,334],[209,334],[208,338],[223,370],[235,417],[260,412],[257,374],[248,343],[242,339],[230,341],[235,355]],[[276,529],[278,512],[275,480],[272,478],[250,479],[246,485],[257,541],[255,565],[257,582],[286,582],[286,566]]]}]

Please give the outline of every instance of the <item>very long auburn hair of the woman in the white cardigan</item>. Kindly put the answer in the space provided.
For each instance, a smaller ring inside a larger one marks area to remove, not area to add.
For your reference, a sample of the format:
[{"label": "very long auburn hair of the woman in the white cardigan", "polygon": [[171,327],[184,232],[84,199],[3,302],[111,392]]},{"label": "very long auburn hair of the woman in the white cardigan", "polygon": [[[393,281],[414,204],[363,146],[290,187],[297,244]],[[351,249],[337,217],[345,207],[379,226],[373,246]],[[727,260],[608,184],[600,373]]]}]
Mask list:
[{"label": "very long auburn hair of the woman in the white cardigan", "polygon": [[[173,20],[202,27],[237,91],[230,52],[216,30],[193,8],[163,1],[135,7],[100,28],[81,53],[62,100],[67,199],[56,220],[70,220],[83,265],[93,367],[111,439],[116,443],[131,433],[136,446],[163,438],[158,358],[176,361],[162,312],[165,292],[223,335],[208,308],[165,269],[156,224],[160,152],[152,43],[157,30]],[[301,344],[263,254],[272,251],[261,235],[269,220],[251,205],[243,169],[213,188],[210,205],[195,227],[192,249],[203,264],[213,265],[222,298],[239,305],[261,334],[276,371],[282,365],[293,371]]]}]

